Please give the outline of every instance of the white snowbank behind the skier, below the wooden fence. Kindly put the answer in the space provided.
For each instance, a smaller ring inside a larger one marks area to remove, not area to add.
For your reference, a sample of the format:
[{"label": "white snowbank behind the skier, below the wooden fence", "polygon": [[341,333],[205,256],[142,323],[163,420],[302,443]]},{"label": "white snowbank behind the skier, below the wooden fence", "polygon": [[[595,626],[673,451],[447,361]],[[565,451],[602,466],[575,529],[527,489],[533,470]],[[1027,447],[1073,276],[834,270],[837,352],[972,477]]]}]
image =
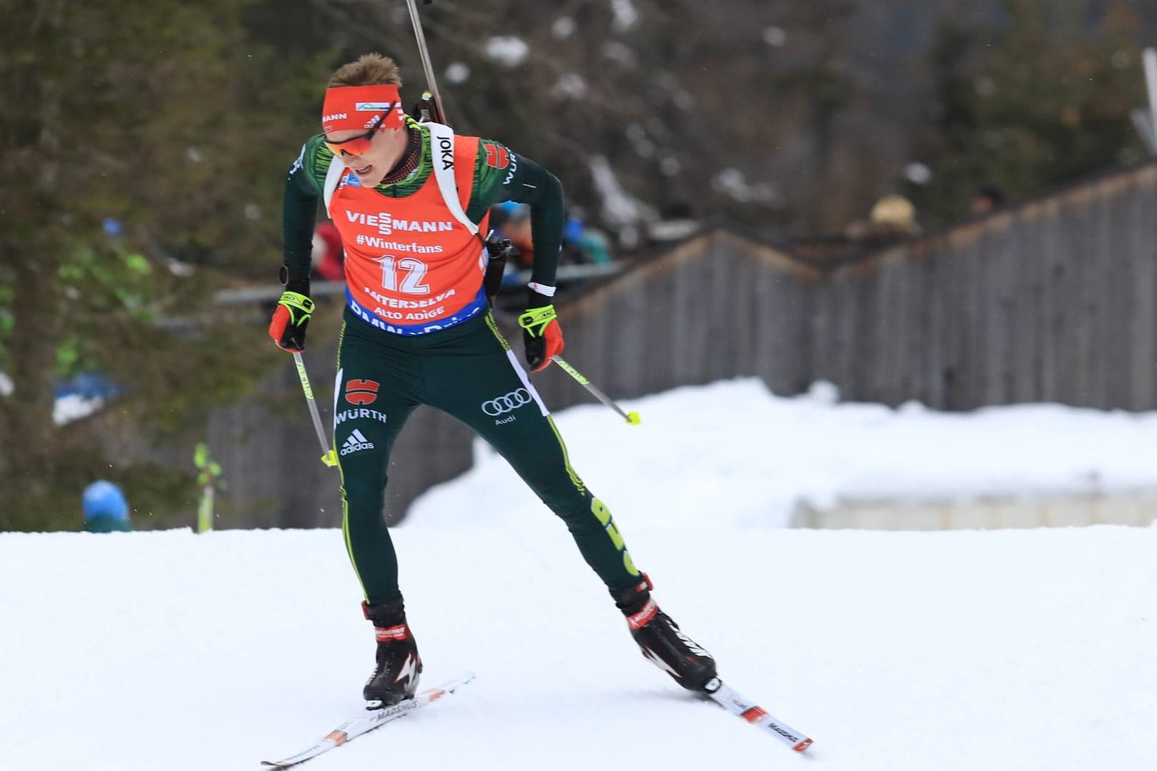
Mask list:
[{"label": "white snowbank behind the skier, below the wooden fence", "polygon": [[[758,378],[555,415],[570,460],[635,527],[787,525],[797,501],[951,501],[1145,492],[1157,497],[1157,413],[1061,405],[938,413],[915,402],[839,402],[831,384],[796,398]],[[484,443],[474,468],[414,502],[407,522],[510,525],[541,504]],[[1157,587],[1155,587],[1157,588]],[[1157,765],[1155,765],[1157,768]]]}]

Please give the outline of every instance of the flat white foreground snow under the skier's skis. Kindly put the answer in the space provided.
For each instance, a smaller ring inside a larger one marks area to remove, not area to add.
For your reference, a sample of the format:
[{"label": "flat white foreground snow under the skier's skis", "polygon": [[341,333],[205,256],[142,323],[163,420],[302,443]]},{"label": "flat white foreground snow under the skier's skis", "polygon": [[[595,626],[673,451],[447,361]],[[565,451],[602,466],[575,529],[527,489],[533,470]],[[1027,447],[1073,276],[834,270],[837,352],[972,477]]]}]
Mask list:
[{"label": "flat white foreground snow under the skier's skis", "polygon": [[[422,681],[478,679],[305,768],[1154,768],[1157,528],[628,521],[663,607],[810,762],[639,655],[561,526],[415,526]],[[6,769],[256,771],[355,713],[373,667],[338,531],[3,534],[0,581]]]}]

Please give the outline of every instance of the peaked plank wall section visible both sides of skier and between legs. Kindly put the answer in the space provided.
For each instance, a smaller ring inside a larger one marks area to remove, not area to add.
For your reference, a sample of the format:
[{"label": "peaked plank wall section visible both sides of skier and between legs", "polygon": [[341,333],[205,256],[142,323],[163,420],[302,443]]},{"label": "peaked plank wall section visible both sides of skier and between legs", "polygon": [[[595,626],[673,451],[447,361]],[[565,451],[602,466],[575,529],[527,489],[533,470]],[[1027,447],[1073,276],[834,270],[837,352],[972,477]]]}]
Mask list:
[{"label": "peaked plank wall section visible both sides of skier and between legs", "polygon": [[[764,377],[778,391],[795,392],[808,385],[804,320],[809,295],[801,287],[818,279],[818,272],[766,246],[723,231],[705,235],[561,306],[566,355],[616,399],[752,375]],[[327,309],[326,313],[339,311]],[[521,354],[514,318],[500,316],[499,323]],[[310,328],[305,361],[323,423],[329,427],[336,334],[317,326]],[[592,401],[559,368],[532,378],[552,409]],[[229,490],[219,499],[222,524],[340,525],[338,474],[318,461],[292,364],[287,362],[260,394],[213,410],[207,430],[229,476]],[[457,421],[429,408],[418,409],[392,453],[386,521],[398,521],[433,484],[470,468],[472,437]]]}]

